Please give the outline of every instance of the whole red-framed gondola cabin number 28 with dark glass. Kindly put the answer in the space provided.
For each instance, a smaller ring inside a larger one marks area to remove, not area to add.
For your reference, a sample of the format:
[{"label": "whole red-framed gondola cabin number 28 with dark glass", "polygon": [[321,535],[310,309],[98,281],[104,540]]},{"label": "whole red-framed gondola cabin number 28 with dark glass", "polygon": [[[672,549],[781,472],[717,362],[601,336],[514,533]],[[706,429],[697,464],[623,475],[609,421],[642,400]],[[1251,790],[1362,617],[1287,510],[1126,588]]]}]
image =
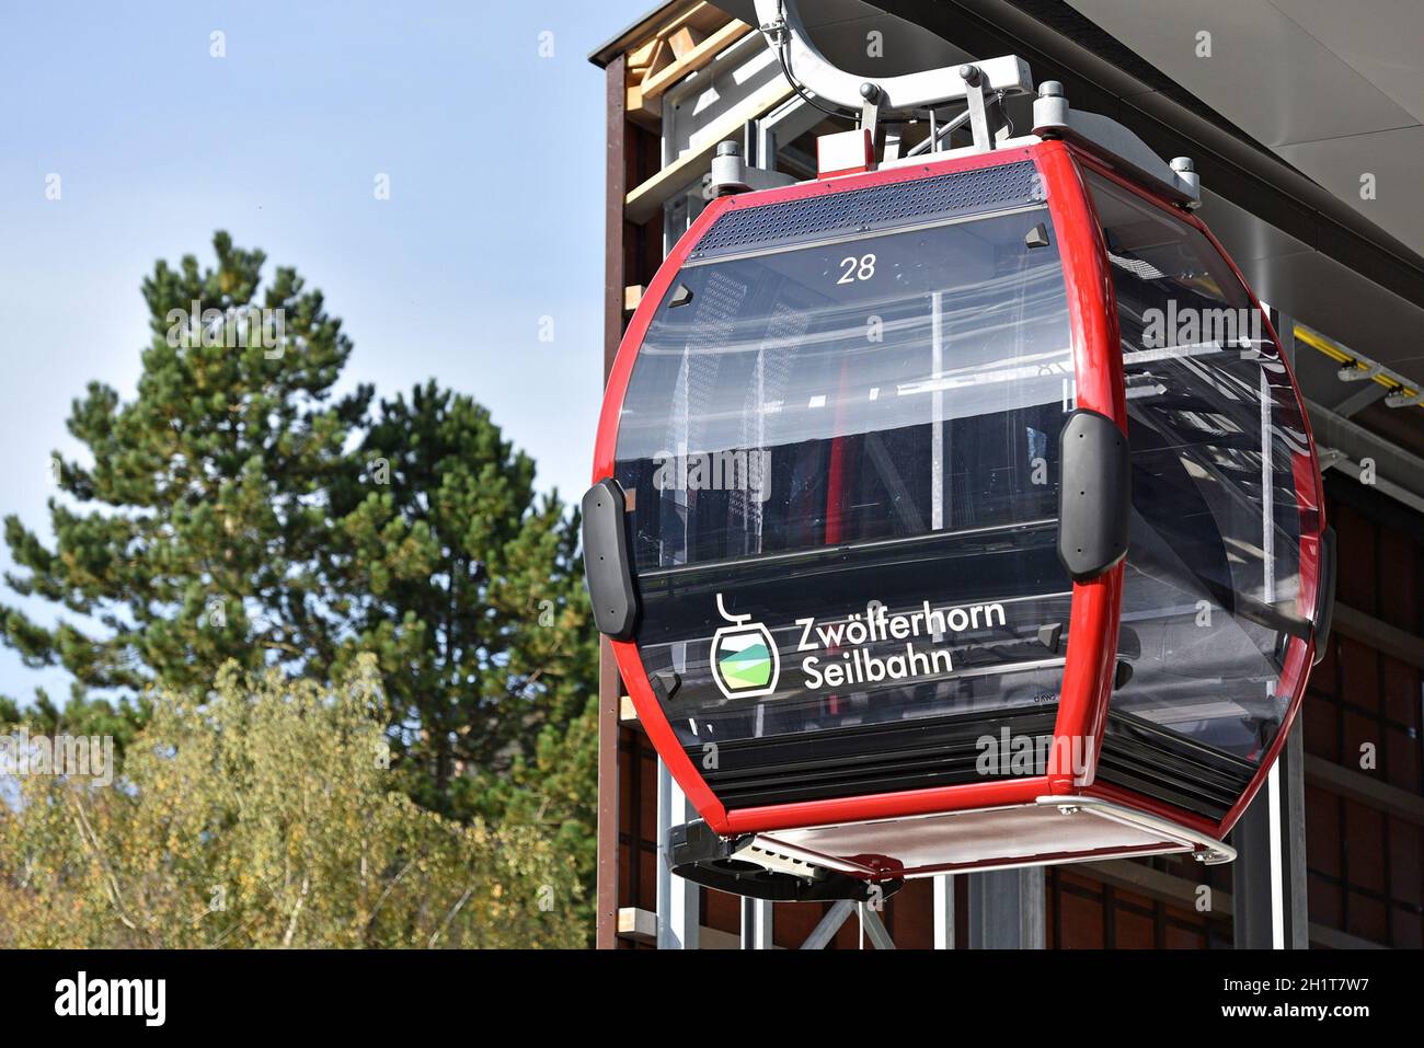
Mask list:
[{"label": "whole red-framed gondola cabin number 28 with dark glass", "polygon": [[1081,142],[713,201],[594,481],[598,625],[702,816],[676,870],[765,898],[1227,860],[1329,618],[1266,315]]}]

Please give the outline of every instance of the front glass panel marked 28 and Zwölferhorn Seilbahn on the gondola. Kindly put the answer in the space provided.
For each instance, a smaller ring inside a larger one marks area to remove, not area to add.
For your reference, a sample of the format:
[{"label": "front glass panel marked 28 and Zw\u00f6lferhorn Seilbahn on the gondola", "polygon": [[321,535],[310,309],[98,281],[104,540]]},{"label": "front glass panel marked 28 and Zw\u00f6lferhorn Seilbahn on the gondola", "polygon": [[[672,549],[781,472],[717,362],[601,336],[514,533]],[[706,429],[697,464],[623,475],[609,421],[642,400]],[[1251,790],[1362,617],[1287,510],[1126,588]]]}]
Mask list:
[{"label": "front glass panel marked 28 and Zw\u00f6lferhorn Seilbahn on the gondola", "polygon": [[685,265],[615,474],[684,743],[1051,711],[1071,384],[1041,204]]}]

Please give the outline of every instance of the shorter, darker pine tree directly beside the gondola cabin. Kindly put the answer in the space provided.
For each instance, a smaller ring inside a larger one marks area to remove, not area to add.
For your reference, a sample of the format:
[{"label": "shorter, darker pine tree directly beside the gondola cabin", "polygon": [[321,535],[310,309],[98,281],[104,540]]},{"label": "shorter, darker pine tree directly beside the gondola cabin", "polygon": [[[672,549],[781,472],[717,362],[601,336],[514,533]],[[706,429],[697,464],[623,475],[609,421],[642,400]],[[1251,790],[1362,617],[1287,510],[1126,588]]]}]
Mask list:
[{"label": "shorter, darker pine tree directly beside the gondola cabin", "polygon": [[535,494],[534,463],[486,409],[434,382],[380,403],[333,510],[332,588],[360,594],[347,658],[380,659],[417,796],[481,810],[473,772],[533,759],[597,681],[577,517]]}]

